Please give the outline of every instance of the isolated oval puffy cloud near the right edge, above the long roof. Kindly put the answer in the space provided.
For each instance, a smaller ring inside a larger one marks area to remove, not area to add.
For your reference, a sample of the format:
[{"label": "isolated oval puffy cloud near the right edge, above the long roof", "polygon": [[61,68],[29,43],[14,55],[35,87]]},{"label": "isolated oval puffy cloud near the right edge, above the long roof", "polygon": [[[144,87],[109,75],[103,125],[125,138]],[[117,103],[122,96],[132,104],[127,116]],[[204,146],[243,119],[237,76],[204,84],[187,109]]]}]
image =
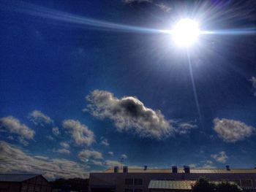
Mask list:
[{"label": "isolated oval puffy cloud near the right edge, above the long roof", "polygon": [[237,142],[246,137],[250,137],[255,132],[255,128],[247,126],[239,120],[215,118],[214,131],[216,131],[219,137],[225,142]]}]

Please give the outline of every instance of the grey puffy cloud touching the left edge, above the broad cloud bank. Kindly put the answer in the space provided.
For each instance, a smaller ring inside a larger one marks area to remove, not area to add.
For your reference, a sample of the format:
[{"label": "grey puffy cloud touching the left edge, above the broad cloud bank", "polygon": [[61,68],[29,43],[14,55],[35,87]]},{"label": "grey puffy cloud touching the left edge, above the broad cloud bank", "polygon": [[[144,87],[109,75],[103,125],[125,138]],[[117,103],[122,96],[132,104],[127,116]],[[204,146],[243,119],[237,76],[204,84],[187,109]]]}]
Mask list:
[{"label": "grey puffy cloud touching the left edge, above the broad cloud bank", "polygon": [[34,137],[34,131],[31,128],[20,123],[20,120],[12,116],[0,118],[0,131],[18,134],[18,136],[25,139],[33,139]]}]

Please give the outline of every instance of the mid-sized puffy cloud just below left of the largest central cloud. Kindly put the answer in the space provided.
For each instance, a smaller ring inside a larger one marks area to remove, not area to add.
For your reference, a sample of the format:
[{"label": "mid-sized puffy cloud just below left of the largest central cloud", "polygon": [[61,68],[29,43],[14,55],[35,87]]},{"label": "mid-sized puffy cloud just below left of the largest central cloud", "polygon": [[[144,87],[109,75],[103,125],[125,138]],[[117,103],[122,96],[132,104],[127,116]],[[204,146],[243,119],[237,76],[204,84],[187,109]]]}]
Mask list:
[{"label": "mid-sized puffy cloud just below left of the largest central cloud", "polygon": [[64,120],[62,126],[69,131],[77,145],[91,145],[94,142],[94,132],[79,120]]}]

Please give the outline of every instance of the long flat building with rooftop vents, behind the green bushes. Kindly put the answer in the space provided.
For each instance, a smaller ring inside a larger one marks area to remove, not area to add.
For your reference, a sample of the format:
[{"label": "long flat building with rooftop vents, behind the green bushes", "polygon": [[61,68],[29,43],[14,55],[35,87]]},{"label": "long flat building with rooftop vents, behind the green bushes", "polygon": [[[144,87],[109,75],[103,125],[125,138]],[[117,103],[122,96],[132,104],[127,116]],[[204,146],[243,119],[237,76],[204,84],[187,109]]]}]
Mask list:
[{"label": "long flat building with rooftop vents, behind the green bushes", "polygon": [[207,177],[212,182],[229,180],[245,191],[256,191],[256,169],[133,169],[118,166],[105,172],[91,173],[89,191],[115,192],[158,192],[158,191],[191,191],[191,186],[199,177]]}]

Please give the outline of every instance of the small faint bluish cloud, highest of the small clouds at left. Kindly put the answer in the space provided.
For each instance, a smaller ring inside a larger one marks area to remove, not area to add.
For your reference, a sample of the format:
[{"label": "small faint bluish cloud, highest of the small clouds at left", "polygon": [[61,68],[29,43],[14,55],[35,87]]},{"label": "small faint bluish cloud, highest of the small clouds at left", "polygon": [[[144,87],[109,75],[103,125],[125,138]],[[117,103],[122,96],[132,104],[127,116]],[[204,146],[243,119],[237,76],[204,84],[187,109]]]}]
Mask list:
[{"label": "small faint bluish cloud, highest of the small clouds at left", "polygon": [[29,113],[29,120],[33,122],[35,125],[44,126],[45,124],[53,123],[53,120],[50,119],[47,115],[43,114],[39,110],[34,110]]}]

